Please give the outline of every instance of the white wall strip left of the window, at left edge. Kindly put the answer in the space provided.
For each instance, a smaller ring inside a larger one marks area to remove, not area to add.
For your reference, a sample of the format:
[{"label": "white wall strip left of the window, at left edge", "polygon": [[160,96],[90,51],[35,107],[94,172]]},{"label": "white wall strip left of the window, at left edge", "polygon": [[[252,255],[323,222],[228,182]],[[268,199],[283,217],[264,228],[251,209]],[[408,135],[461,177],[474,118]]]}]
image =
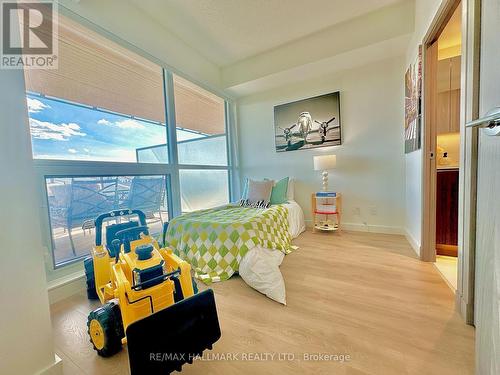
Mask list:
[{"label": "white wall strip left of the window, at left edge", "polygon": [[[24,76],[0,69],[0,374],[56,374]],[[45,372],[47,370],[47,372]]]}]

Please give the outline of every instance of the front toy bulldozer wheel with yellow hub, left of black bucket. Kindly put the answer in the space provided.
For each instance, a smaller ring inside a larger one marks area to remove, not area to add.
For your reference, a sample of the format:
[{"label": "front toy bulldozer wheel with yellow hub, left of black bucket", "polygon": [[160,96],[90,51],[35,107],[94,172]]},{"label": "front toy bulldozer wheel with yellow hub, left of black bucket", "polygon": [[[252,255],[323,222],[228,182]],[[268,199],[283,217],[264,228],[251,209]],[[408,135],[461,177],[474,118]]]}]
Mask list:
[{"label": "front toy bulldozer wheel with yellow hub, left of black bucket", "polygon": [[115,302],[95,309],[87,321],[90,342],[102,357],[110,357],[122,348],[123,323],[120,307]]}]

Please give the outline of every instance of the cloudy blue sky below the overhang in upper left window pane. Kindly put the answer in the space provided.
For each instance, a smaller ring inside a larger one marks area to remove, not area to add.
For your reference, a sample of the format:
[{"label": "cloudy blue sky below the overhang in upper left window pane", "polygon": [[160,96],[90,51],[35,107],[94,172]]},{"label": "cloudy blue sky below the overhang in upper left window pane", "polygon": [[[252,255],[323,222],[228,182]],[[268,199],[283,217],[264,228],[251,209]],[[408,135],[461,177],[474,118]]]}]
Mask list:
[{"label": "cloudy blue sky below the overhang in upper left window pane", "polygon": [[35,159],[168,163],[164,124],[39,94],[27,102]]}]

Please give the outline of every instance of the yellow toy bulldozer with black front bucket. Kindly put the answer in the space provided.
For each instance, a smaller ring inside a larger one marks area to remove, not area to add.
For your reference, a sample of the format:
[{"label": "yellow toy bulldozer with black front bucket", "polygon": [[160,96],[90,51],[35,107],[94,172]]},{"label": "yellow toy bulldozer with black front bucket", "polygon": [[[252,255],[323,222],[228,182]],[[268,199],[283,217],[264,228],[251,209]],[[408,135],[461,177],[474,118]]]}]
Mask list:
[{"label": "yellow toy bulldozer with black front bucket", "polygon": [[[125,217],[129,221],[121,222]],[[103,244],[103,225],[111,220],[116,223],[106,226]],[[191,266],[160,248],[145,214],[112,211],[100,215],[95,228],[84,265],[87,295],[102,303],[87,322],[97,353],[109,357],[127,343],[132,374],[165,374],[212,349],[221,336],[213,291],[197,293]]]}]

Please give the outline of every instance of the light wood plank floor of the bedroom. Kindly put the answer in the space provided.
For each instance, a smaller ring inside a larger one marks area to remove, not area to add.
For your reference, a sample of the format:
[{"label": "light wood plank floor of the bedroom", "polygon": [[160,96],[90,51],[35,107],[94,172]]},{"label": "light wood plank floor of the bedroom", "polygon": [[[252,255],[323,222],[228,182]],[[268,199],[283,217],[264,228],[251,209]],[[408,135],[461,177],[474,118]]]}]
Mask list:
[{"label": "light wood plank floor of the bedroom", "polygon": [[[473,374],[474,329],[455,312],[438,271],[417,260],[404,237],[305,233],[294,242],[300,249],[281,266],[288,305],[239,277],[215,284],[222,338],[210,353],[240,360],[196,361],[183,373]],[[103,359],[88,342],[87,314],[95,306],[82,293],[52,307],[65,374],[128,374],[126,348]],[[241,353],[277,354],[242,361]],[[278,360],[278,353],[291,353],[291,360]],[[306,353],[350,360],[307,361]]]}]

